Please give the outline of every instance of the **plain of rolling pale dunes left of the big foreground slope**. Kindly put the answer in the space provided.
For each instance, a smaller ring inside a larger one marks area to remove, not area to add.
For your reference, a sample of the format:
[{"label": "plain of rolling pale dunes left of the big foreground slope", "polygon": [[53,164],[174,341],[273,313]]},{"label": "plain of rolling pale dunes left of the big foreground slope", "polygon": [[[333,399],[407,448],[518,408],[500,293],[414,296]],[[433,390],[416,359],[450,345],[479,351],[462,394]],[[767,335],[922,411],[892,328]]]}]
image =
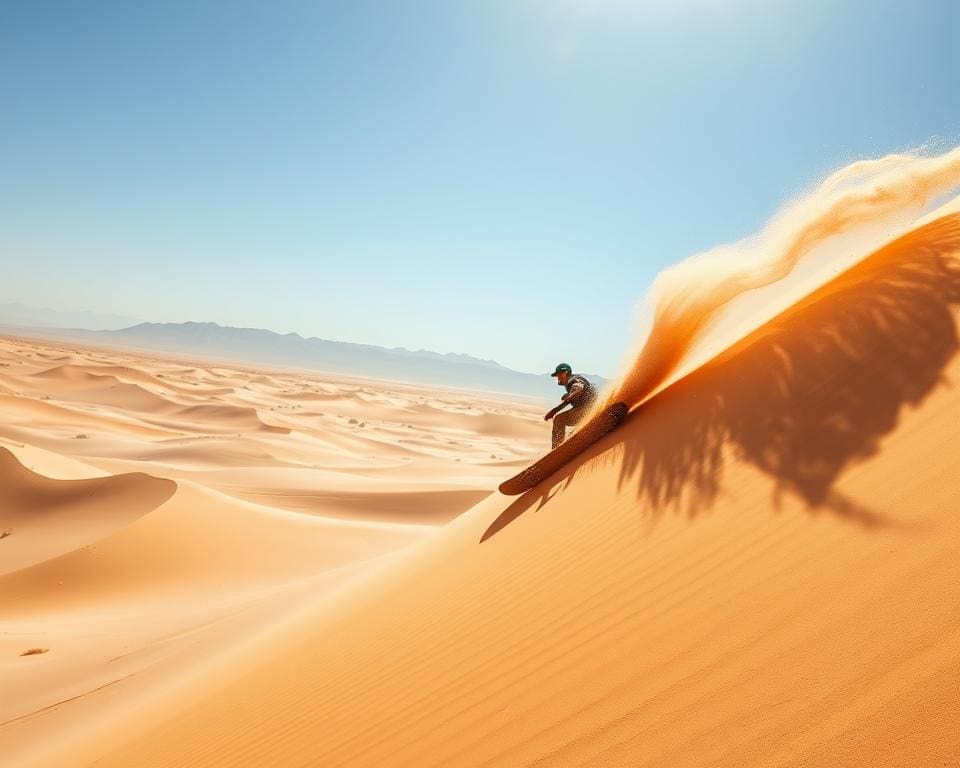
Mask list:
[{"label": "plain of rolling pale dunes left of the big foreground slope", "polygon": [[0,337],[0,762],[428,540],[542,450],[542,410]]}]

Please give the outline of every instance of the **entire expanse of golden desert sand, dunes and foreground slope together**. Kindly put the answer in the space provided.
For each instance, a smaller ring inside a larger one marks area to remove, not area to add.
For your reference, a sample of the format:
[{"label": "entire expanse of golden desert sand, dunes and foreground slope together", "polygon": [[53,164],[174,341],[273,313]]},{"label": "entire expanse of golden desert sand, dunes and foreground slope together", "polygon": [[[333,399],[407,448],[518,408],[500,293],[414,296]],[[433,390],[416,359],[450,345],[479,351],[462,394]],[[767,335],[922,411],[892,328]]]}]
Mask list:
[{"label": "entire expanse of golden desert sand, dunes and foreground slope together", "polygon": [[4,754],[960,765],[960,206],[907,166],[667,286],[625,424],[517,498],[533,405],[4,340]]}]

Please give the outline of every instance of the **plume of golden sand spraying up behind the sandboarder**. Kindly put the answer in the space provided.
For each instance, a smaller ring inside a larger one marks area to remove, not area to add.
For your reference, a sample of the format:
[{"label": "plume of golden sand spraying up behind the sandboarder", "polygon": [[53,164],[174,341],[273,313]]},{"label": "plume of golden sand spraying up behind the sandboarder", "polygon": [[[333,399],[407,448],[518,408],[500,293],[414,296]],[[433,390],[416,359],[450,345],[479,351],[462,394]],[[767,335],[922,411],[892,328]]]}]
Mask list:
[{"label": "plume of golden sand spraying up behind the sandboarder", "polygon": [[[960,147],[936,156],[855,162],[789,205],[760,234],[662,272],[645,302],[643,346],[606,403],[638,406],[817,287],[811,280],[823,284],[914,229],[958,186]],[[762,309],[751,311],[744,324],[743,305],[761,299]],[[711,347],[721,335],[722,346]]]}]

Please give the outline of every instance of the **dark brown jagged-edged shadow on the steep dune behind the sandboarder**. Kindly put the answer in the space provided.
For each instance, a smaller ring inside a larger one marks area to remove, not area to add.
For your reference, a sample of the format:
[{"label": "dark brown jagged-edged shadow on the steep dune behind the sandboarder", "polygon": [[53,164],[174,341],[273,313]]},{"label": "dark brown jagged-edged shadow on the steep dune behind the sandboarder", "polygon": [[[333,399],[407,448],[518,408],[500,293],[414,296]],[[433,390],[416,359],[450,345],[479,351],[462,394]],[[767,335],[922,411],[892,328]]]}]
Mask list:
[{"label": "dark brown jagged-edged shadow on the steep dune behind the sandboarder", "polygon": [[957,353],[960,215],[894,241],[644,405],[622,488],[694,515],[744,461],[811,511],[888,522],[833,486],[939,384]]}]

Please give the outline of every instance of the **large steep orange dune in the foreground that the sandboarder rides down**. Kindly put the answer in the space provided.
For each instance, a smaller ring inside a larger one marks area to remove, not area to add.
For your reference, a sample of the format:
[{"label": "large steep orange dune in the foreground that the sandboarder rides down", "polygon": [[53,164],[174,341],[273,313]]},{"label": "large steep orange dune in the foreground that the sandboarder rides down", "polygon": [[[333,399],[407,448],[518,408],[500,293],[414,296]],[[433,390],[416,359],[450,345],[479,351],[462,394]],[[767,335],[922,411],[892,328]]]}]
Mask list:
[{"label": "large steep orange dune in the foreground that the sandboarder rides down", "polygon": [[891,242],[72,754],[956,763],[958,263],[955,217]]}]

